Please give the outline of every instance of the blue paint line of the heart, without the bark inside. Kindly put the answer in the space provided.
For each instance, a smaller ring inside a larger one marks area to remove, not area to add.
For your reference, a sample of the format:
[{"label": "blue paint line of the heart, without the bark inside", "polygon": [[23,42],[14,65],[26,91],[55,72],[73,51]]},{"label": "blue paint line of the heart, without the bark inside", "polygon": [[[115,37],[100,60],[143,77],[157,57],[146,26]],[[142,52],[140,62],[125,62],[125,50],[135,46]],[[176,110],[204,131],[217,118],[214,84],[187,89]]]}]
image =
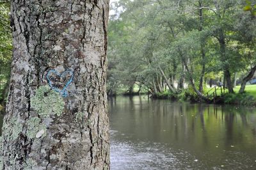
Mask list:
[{"label": "blue paint line of the heart, without the bark inside", "polygon": [[[51,75],[51,73],[55,73],[58,77],[65,77],[67,74],[70,74],[71,77],[70,79],[68,80],[68,82],[65,84],[64,88],[63,89],[60,89],[60,88],[56,88],[53,86],[52,84],[52,81],[51,79],[49,78],[49,75]],[[46,75],[46,78],[47,78],[47,81],[49,82],[49,86],[51,87],[51,89],[53,89],[54,91],[60,93],[60,95],[62,95],[63,97],[67,97],[68,96],[68,92],[67,92],[67,87],[68,85],[73,81],[73,78],[74,78],[74,73],[71,71],[71,70],[66,70],[65,72],[63,73],[59,73],[59,72],[56,72],[55,70],[50,70],[47,75]]]}]

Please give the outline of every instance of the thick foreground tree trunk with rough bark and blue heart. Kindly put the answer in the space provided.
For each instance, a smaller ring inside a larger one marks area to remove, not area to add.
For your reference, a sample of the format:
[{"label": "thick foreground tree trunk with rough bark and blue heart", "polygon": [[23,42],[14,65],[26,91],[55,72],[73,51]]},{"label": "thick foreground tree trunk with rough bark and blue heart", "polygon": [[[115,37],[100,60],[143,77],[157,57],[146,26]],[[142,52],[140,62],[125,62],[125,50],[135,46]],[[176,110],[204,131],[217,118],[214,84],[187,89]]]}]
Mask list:
[{"label": "thick foreground tree trunk with rough bark and blue heart", "polygon": [[0,169],[109,169],[108,10],[108,0],[12,1]]}]

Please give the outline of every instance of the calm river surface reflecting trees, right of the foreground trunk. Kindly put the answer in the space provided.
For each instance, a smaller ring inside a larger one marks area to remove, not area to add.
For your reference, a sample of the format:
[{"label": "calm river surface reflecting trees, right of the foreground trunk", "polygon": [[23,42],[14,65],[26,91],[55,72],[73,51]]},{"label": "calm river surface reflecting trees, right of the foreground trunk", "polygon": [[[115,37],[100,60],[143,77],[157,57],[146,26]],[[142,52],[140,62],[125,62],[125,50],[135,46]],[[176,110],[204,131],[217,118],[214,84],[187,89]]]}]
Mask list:
[{"label": "calm river surface reflecting trees, right of the foreground trunk", "polygon": [[256,110],[109,99],[111,169],[256,169]]}]

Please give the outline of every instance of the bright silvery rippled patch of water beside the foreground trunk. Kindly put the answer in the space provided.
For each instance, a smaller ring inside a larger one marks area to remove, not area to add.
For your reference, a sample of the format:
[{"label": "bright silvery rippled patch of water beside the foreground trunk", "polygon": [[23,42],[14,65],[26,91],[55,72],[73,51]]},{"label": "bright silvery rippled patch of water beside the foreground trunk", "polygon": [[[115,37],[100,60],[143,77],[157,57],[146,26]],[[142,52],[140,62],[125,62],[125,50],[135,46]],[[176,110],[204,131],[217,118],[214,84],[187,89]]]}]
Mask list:
[{"label": "bright silvery rippled patch of water beside the foreground trunk", "polygon": [[161,143],[111,143],[111,169],[192,169],[204,167],[186,151]]}]

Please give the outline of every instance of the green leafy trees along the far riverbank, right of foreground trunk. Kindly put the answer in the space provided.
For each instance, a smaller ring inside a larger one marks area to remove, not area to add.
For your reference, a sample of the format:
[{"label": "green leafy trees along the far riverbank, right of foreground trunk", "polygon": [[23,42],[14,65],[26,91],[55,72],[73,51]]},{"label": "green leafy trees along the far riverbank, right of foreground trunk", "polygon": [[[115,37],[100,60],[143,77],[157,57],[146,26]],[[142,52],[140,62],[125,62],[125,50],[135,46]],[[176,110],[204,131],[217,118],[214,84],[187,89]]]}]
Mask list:
[{"label": "green leafy trees along the far riverbank, right of foreground trunk", "polygon": [[[176,91],[185,79],[186,94],[197,98],[195,88],[202,87],[202,78],[220,79],[225,70],[246,75],[256,63],[256,23],[243,11],[244,5],[244,1],[207,0],[116,2],[118,14],[111,17],[108,28],[108,89],[143,84],[162,98],[165,76]],[[250,5],[253,8],[254,3]]]}]

